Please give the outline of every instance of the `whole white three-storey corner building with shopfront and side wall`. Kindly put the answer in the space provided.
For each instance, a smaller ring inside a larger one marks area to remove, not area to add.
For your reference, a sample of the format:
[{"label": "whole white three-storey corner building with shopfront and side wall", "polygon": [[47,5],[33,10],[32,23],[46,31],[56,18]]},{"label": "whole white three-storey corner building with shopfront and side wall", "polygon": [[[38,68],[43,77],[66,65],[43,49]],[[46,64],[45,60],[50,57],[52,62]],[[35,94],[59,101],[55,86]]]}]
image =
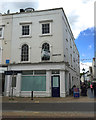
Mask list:
[{"label": "whole white three-storey corner building with shopfront and side wall", "polygon": [[62,8],[5,16],[12,17],[5,96],[66,97],[79,87],[79,53]]}]

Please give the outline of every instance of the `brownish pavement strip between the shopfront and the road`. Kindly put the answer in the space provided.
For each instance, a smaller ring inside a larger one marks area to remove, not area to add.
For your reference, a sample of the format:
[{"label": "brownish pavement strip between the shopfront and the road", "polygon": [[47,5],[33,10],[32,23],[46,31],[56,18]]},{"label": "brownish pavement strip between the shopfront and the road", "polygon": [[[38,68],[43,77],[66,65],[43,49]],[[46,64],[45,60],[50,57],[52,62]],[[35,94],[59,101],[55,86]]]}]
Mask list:
[{"label": "brownish pavement strip between the shopfront and the road", "polygon": [[96,102],[96,98],[89,98],[88,96],[73,97],[68,96],[65,98],[56,97],[43,97],[33,98],[31,97],[2,97],[2,102],[32,102],[32,103],[64,103],[64,102]]}]

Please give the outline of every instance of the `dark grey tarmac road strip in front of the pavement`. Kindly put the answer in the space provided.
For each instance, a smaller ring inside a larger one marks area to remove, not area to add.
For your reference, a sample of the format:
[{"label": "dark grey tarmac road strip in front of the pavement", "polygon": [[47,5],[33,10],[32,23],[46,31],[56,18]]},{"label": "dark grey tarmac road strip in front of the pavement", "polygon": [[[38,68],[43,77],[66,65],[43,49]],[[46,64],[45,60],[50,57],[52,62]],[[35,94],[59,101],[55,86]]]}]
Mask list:
[{"label": "dark grey tarmac road strip in front of the pavement", "polygon": [[2,103],[3,111],[94,112],[96,102],[80,103]]}]

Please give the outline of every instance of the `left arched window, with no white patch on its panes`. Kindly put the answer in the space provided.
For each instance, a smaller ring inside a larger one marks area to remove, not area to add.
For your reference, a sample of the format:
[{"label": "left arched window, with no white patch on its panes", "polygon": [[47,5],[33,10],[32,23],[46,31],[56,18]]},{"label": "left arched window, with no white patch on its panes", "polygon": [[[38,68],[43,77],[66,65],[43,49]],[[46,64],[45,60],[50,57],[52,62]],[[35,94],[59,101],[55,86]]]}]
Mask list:
[{"label": "left arched window, with no white patch on its panes", "polygon": [[27,44],[22,45],[21,49],[21,61],[29,60],[29,47]]}]

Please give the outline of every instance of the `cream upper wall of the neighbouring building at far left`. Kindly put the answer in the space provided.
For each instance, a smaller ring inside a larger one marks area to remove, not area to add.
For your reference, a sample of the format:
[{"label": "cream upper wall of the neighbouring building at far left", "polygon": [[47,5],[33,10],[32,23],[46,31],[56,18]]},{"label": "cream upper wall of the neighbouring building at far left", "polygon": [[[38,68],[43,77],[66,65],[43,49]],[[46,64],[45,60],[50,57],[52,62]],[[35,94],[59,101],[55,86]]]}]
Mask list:
[{"label": "cream upper wall of the neighbouring building at far left", "polygon": [[0,16],[0,26],[3,27],[3,38],[0,38],[0,44],[2,44],[2,62],[0,64],[6,64],[6,60],[10,60],[11,54],[12,15]]}]

